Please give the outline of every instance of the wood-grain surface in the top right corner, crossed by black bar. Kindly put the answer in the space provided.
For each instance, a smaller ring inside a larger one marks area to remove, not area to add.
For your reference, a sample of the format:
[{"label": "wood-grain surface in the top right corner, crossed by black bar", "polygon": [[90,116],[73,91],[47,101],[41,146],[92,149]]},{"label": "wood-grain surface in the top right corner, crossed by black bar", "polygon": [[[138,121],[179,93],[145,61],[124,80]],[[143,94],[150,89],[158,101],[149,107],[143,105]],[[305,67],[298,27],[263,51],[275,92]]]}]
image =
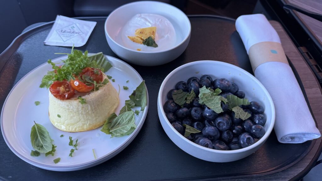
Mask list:
[{"label": "wood-grain surface in the top right corner, crossed by black bar", "polygon": [[[289,3],[302,7],[314,13],[322,14],[322,0],[288,0]],[[312,30],[317,38],[322,42],[322,22],[311,18],[305,14],[297,12],[299,17]]]}]

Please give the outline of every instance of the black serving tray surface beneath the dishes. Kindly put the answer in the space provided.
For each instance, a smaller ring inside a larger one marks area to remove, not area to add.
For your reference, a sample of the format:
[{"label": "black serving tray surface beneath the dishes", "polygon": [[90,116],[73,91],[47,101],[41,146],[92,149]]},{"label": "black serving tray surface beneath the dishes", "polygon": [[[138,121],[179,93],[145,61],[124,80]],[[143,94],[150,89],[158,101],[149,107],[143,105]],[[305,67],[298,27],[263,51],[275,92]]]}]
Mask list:
[{"label": "black serving tray surface beneath the dishes", "polygon": [[[81,19],[96,21],[97,24],[88,42],[77,49],[103,52],[118,58],[105,38],[106,17]],[[276,173],[301,160],[314,141],[282,144],[278,142],[274,131],[255,153],[229,163],[213,163],[190,156],[167,137],[160,124],[156,104],[160,85],[172,70],[188,62],[216,60],[237,65],[252,73],[248,55],[235,29],[235,20],[219,16],[189,16],[189,19],[192,26],[190,43],[176,60],[155,67],[130,64],[146,81],[150,103],[141,131],[127,148],[98,166],[80,171],[55,172],[34,167],[16,157],[0,137],[2,179],[25,180],[31,176],[33,180],[60,181],[237,179]],[[51,27],[52,22],[25,32],[0,55],[1,107],[9,91],[25,74],[48,59],[61,56],[55,55],[55,52],[71,51],[70,47],[43,44]]]}]

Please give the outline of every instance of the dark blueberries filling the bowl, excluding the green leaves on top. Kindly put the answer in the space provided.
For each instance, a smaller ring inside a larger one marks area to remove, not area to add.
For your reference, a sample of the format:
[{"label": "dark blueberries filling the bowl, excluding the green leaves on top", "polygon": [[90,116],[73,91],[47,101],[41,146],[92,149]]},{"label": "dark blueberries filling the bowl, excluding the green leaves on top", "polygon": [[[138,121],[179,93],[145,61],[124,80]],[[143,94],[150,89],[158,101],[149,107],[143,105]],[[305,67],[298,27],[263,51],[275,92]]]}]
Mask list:
[{"label": "dark blueberries filling the bowl, excluding the green leaves on top", "polygon": [[[265,134],[264,125],[266,119],[263,115],[264,108],[256,101],[249,105],[240,107],[251,114],[242,120],[235,118],[235,112],[228,109],[228,105],[221,102],[222,113],[216,113],[205,104],[199,103],[199,88],[205,86],[213,90],[219,88],[222,92],[220,96],[226,98],[227,95],[235,95],[238,98],[245,98],[245,93],[239,91],[238,85],[227,79],[213,80],[209,75],[203,75],[198,79],[191,77],[187,82],[179,81],[175,89],[168,92],[168,100],[163,109],[171,125],[182,135],[185,135],[186,125],[199,130],[199,133],[191,133],[185,137],[194,143],[217,150],[235,150],[248,147],[255,143],[255,139],[260,139]],[[184,92],[194,91],[196,97],[191,103],[179,106],[173,100],[173,93],[178,90]]]}]

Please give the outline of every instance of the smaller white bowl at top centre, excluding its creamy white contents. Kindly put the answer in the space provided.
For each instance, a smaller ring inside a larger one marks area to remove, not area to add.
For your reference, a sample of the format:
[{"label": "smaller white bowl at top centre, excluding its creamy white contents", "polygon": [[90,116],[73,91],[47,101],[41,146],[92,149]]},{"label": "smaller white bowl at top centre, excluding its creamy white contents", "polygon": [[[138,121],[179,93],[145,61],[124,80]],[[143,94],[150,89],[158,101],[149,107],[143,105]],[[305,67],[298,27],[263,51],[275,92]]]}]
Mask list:
[{"label": "smaller white bowl at top centre, excluding its creamy white contents", "polygon": [[[123,26],[136,14],[158,14],[168,19],[175,29],[177,43],[174,47],[155,52],[144,52],[129,49],[117,40]],[[105,21],[105,36],[112,51],[127,62],[156,66],[175,60],[188,46],[191,24],[188,17],[175,6],[156,2],[138,1],[120,6],[114,10]]]}]

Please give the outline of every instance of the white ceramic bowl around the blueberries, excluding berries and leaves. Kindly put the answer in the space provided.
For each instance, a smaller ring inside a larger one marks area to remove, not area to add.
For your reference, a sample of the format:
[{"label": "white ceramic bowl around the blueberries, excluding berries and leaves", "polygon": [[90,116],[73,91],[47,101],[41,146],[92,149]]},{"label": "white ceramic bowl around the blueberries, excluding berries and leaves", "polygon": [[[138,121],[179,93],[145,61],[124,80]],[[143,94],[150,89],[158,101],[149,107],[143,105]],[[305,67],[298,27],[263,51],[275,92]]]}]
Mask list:
[{"label": "white ceramic bowl around the blueberries, excluding berries and leaves", "polygon": [[[215,150],[195,144],[182,136],[171,126],[171,123],[167,120],[166,113],[163,110],[168,91],[174,89],[175,84],[178,81],[187,81],[188,78],[193,76],[200,78],[203,74],[208,74],[212,76],[213,79],[226,78],[229,81],[235,82],[238,85],[239,90],[245,92],[246,98],[249,101],[256,100],[262,104],[265,109],[264,115],[266,117],[266,124],[264,125],[265,135],[262,138],[246,148],[228,151]],[[269,137],[275,122],[274,104],[265,87],[247,71],[235,65],[218,61],[191,62],[172,71],[166,76],[166,79],[161,84],[157,107],[161,125],[168,137],[186,153],[211,162],[230,162],[251,155],[264,144]]]}]

